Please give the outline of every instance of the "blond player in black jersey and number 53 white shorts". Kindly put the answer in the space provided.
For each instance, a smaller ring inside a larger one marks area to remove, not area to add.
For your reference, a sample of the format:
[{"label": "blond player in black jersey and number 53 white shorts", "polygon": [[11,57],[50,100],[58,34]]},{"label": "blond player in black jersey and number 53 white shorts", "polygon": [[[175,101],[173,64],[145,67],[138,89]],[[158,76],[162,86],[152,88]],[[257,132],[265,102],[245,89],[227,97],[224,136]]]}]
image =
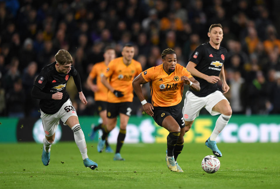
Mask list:
[{"label": "blond player in black jersey and number 53 white shorts", "polygon": [[81,102],[85,105],[88,103],[82,92],[80,75],[72,63],[73,59],[69,52],[59,50],[55,55],[55,62],[42,69],[31,91],[33,98],[40,99],[41,119],[46,135],[43,139],[42,162],[46,166],[50,162],[50,147],[55,140],[55,131],[61,119],[64,125],[68,125],[74,132],[75,142],[81,152],[85,167],[94,170],[97,168],[97,163],[88,158],[85,135],[79,124],[76,110],[66,92],[67,82],[73,76]]}]

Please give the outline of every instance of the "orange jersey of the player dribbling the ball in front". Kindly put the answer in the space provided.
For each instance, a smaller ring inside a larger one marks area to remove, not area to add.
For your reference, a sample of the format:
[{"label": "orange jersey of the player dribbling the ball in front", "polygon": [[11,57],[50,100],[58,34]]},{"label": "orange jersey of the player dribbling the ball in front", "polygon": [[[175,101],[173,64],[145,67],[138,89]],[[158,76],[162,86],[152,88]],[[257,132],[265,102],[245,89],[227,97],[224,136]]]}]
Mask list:
[{"label": "orange jersey of the player dribbling the ball in front", "polygon": [[141,73],[143,78],[150,82],[150,90],[153,106],[175,106],[179,104],[183,96],[184,82],[181,76],[191,78],[187,68],[176,64],[175,71],[168,75],[163,64],[151,67]]}]

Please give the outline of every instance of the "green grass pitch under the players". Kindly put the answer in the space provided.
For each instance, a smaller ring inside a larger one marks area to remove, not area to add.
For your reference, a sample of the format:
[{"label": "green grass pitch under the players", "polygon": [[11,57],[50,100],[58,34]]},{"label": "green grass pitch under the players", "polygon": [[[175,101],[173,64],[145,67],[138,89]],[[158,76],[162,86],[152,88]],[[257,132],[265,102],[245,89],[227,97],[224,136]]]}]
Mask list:
[{"label": "green grass pitch under the players", "polygon": [[[207,174],[201,161],[212,151],[204,144],[185,143],[178,163],[183,173],[165,162],[166,144],[124,144],[125,161],[98,153],[88,142],[88,156],[97,170],[84,167],[75,142],[52,145],[50,164],[41,162],[41,144],[0,144],[0,188],[280,188],[280,143],[218,143],[220,170]],[[112,145],[115,149],[115,145]]]}]

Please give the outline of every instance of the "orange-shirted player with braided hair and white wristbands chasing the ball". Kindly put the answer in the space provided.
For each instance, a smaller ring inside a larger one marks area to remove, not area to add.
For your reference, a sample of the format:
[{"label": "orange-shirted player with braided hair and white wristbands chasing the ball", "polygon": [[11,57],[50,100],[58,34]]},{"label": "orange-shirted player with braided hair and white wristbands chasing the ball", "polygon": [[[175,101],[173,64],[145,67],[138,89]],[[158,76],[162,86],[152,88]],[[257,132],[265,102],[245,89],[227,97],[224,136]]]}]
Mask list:
[{"label": "orange-shirted player with braided hair and white wristbands chasing the ball", "polygon": [[[185,123],[179,103],[182,100],[184,83],[199,91],[199,82],[188,70],[177,64],[173,49],[162,51],[162,64],[151,67],[137,76],[132,86],[143,105],[144,111],[155,122],[169,131],[165,161],[171,171],[183,172],[177,157],[183,149]],[[152,102],[148,103],[142,93],[141,84],[150,82]]]}]

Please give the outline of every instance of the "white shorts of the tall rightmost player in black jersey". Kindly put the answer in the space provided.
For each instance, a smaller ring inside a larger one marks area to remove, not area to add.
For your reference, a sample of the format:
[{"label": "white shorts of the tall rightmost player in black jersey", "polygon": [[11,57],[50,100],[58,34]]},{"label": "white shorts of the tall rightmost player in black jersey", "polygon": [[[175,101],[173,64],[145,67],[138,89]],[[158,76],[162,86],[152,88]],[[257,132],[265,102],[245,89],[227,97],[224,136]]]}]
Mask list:
[{"label": "white shorts of the tall rightmost player in black jersey", "polygon": [[[192,121],[198,117],[202,108],[205,108],[211,115],[218,115],[220,112],[212,108],[221,100],[227,100],[223,93],[215,91],[206,97],[197,97],[192,92],[187,91],[183,107],[183,117],[185,121]],[[227,100],[228,101],[228,100]]]}]

